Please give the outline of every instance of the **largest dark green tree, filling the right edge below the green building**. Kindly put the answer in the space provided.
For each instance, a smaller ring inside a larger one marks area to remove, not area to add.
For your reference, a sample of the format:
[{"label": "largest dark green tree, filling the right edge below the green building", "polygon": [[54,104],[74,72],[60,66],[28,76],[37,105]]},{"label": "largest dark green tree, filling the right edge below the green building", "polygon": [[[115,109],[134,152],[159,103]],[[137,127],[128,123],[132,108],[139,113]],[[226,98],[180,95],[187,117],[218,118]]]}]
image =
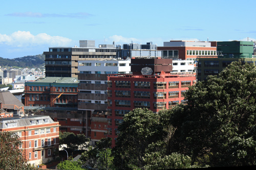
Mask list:
[{"label": "largest dark green tree, filling the right edge below the green building", "polygon": [[171,152],[191,156],[191,164],[247,166],[256,164],[256,69],[232,62],[219,77],[191,86],[188,104],[168,111],[177,128]]}]

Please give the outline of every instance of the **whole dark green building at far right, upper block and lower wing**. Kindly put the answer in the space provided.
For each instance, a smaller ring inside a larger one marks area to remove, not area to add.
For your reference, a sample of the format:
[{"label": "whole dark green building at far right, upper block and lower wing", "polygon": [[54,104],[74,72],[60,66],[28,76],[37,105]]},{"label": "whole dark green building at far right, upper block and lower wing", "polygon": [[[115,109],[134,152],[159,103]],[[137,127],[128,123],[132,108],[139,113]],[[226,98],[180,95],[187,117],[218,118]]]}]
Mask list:
[{"label": "whole dark green building at far right, upper block and lower wing", "polygon": [[209,75],[219,75],[219,73],[233,61],[244,59],[245,62],[254,63],[253,42],[252,41],[220,41],[217,42],[218,58],[198,57],[197,80],[204,81]]}]

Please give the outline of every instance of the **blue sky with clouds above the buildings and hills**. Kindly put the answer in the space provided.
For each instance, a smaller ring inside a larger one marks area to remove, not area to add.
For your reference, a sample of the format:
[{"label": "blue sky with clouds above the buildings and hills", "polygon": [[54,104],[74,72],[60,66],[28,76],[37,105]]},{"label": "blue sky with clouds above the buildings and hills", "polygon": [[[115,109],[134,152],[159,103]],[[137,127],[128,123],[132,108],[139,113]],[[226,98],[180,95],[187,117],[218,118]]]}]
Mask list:
[{"label": "blue sky with clouds above the buildings and hills", "polygon": [[1,1],[0,57],[49,47],[170,40],[256,40],[255,0]]}]

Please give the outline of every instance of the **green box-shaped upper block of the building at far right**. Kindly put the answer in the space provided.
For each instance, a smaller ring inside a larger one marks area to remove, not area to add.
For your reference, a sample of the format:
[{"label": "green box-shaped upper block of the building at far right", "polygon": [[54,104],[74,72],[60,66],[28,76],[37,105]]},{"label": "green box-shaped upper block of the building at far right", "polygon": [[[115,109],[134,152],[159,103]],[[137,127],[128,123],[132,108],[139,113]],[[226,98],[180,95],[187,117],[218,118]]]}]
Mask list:
[{"label": "green box-shaped upper block of the building at far right", "polygon": [[218,58],[251,58],[252,41],[217,41]]}]

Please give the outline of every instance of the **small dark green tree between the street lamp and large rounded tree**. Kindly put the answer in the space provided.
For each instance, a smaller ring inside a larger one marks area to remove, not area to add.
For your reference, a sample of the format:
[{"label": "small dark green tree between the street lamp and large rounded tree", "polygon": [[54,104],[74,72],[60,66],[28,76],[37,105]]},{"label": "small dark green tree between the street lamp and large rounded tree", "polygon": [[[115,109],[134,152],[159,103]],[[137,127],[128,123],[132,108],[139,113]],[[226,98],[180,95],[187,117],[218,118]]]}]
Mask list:
[{"label": "small dark green tree between the street lamp and large rounded tree", "polygon": [[82,153],[80,160],[87,168],[113,169],[111,138],[102,138],[96,143],[95,148],[89,147],[88,151]]}]

